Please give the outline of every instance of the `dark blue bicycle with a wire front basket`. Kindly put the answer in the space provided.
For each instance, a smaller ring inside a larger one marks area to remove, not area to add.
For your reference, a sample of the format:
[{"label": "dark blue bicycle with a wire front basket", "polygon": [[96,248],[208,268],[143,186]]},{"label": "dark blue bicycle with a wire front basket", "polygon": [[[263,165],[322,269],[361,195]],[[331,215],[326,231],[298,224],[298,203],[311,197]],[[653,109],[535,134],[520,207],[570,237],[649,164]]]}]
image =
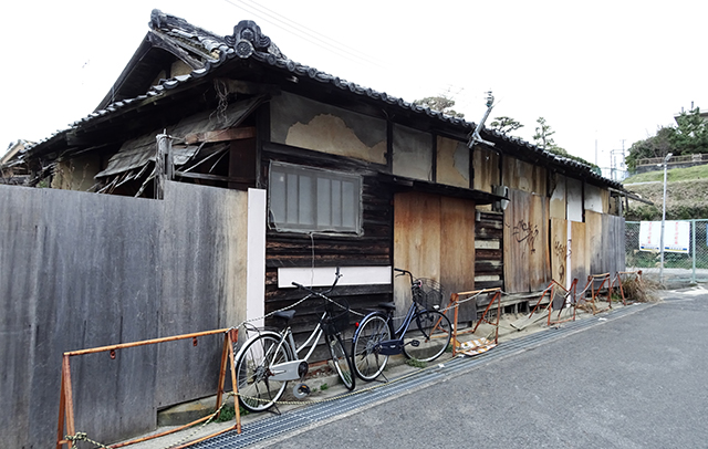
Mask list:
[{"label": "dark blue bicycle with a wire front basket", "polygon": [[[452,336],[450,321],[439,311],[442,293],[435,281],[414,279],[407,270],[394,268],[410,278],[413,301],[403,323],[394,332],[396,305],[382,303],[384,312],[367,314],[357,325],[352,340],[354,372],[362,380],[376,379],[388,357],[403,353],[407,358],[430,362],[445,353]],[[426,291],[426,286],[428,286]],[[412,326],[415,322],[415,326]]]}]

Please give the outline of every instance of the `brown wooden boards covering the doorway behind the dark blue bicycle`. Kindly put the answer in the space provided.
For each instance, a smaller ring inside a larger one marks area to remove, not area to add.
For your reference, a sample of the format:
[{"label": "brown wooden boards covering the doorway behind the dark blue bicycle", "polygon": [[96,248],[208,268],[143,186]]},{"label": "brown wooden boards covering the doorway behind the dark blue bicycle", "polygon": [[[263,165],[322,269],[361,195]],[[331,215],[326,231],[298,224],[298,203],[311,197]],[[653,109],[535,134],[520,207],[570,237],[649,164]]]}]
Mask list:
[{"label": "brown wooden boards covering the doorway behind the dark blue bicycle", "polygon": [[[442,284],[447,293],[475,286],[475,203],[437,195],[407,192],[395,196],[394,264],[417,278]],[[407,278],[394,282],[399,314],[410,305]],[[460,321],[473,320],[476,309],[460,307]]]}]

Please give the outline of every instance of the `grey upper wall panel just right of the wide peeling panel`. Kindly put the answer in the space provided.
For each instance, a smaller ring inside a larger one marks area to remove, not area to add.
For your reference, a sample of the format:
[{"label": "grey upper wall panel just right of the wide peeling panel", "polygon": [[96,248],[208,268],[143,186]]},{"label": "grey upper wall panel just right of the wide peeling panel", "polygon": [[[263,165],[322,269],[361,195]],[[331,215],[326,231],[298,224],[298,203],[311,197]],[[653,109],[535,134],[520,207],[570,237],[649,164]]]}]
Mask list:
[{"label": "grey upper wall panel just right of the wide peeling panel", "polygon": [[394,175],[433,181],[433,136],[394,125]]}]

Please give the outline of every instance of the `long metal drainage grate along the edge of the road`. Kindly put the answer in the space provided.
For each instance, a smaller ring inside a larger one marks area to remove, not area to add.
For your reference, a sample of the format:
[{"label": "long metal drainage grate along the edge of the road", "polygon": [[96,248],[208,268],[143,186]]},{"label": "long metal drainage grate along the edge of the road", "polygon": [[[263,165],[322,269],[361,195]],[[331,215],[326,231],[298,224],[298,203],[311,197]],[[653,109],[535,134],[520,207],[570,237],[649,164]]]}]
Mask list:
[{"label": "long metal drainage grate along the edge of the road", "polygon": [[605,321],[624,317],[631,313],[645,309],[646,306],[649,306],[649,304],[637,303],[621,310],[613,310],[610,313],[603,313],[602,315],[593,319],[563,323],[559,327],[548,328],[543,332],[537,332],[525,337],[501,343],[494,347],[494,349],[488,351],[472,358],[456,357],[447,362],[442,362],[441,367],[440,365],[430,366],[429,368],[421,369],[403,380],[392,382],[391,384],[382,385],[376,389],[347,396],[340,400],[305,406],[296,410],[288,411],[283,415],[273,415],[268,418],[243,425],[241,427],[240,435],[233,430],[207,441],[202,441],[194,447],[198,449],[246,448],[250,445],[274,438],[279,435],[302,429],[303,427],[315,422],[331,419],[347,411],[378,403],[387,397],[399,395],[405,390],[415,389],[425,386],[426,384],[434,384],[444,377],[472,370],[480,364],[487,364],[496,359],[522,353],[576,332],[594,327]]}]

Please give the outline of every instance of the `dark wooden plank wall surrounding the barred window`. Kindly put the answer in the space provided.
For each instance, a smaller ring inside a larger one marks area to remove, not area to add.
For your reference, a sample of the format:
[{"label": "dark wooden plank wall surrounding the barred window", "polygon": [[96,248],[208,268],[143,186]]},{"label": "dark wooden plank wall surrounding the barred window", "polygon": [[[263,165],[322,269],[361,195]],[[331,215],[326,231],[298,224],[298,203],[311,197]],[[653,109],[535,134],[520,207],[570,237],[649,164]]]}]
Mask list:
[{"label": "dark wooden plank wall surrounding the barred window", "polygon": [[[376,169],[369,164],[355,159],[266,144],[262,152],[264,181],[268,180],[268,167],[271,160],[360,175],[363,186],[363,233],[361,236],[311,234],[269,229],[266,239],[266,313],[292,305],[304,296],[301,291],[278,288],[279,268],[389,267],[392,264],[393,192],[382,182]],[[332,280],[334,280],[334,270]],[[346,297],[350,306],[361,312],[374,307],[379,302],[388,301],[391,292],[391,284],[348,285],[337,286],[332,296]],[[315,326],[319,306],[317,301],[306,301],[298,306],[298,314],[292,325],[299,340],[305,334],[309,335]],[[269,319],[266,324],[278,325],[279,323]]]}]

